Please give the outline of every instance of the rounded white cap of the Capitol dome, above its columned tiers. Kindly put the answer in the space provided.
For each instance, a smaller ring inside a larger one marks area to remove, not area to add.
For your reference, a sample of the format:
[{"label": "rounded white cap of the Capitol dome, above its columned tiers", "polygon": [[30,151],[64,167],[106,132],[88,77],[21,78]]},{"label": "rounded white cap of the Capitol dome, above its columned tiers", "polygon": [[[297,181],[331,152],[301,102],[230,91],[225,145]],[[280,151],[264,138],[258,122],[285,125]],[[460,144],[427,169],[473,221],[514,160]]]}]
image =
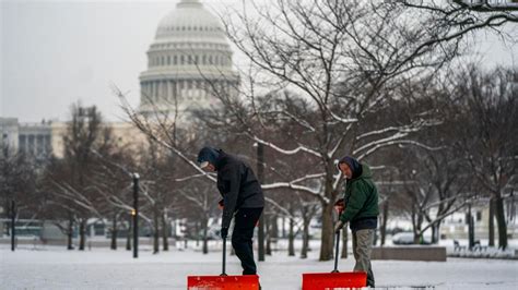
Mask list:
[{"label": "rounded white cap of the Capitol dome, above its columned tiers", "polygon": [[162,43],[167,38],[219,38],[226,43],[220,20],[198,0],[181,0],[175,10],[162,19],[155,39]]}]

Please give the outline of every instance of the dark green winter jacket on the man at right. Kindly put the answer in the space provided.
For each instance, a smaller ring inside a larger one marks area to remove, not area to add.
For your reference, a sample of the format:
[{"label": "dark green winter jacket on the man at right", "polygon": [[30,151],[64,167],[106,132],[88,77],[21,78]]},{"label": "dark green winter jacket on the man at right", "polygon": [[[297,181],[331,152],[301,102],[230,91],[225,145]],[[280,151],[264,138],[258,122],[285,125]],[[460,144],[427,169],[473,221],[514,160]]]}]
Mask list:
[{"label": "dark green winter jacket on the man at right", "polygon": [[345,184],[345,210],[340,215],[343,222],[376,218],[379,214],[378,190],[373,182],[373,173],[365,164],[362,164],[362,169],[360,177],[348,179]]}]

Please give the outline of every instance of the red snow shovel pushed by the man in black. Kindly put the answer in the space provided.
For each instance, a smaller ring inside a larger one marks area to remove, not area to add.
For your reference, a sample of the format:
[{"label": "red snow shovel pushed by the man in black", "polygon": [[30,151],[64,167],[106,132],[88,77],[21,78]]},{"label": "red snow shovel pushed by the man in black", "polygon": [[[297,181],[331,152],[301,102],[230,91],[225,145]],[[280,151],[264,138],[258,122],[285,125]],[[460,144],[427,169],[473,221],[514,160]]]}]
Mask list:
[{"label": "red snow shovel pushed by the man in black", "polygon": [[220,276],[188,276],[188,290],[258,290],[259,276],[228,276],[225,274],[226,238],[223,239],[223,270]]}]

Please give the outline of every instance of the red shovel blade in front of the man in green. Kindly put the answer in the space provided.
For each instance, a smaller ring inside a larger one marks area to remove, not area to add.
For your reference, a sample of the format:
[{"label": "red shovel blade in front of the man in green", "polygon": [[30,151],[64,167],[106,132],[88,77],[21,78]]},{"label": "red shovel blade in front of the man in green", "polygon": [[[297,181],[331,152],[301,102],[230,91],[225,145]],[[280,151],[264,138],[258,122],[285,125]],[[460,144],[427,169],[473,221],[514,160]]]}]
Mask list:
[{"label": "red shovel blade in front of the man in green", "polygon": [[331,290],[367,286],[365,271],[303,274],[303,290]]}]

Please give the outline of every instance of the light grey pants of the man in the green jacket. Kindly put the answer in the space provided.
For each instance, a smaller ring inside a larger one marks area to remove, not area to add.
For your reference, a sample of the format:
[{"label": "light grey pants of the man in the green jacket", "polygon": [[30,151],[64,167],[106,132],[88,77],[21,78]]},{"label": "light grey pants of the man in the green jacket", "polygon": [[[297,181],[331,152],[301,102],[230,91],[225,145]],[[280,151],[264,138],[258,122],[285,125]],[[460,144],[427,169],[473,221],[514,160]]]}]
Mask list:
[{"label": "light grey pants of the man in the green jacket", "polygon": [[367,273],[367,286],[375,287],[373,267],[370,266],[370,252],[374,243],[374,229],[353,231],[353,253],[356,264],[354,271]]}]

